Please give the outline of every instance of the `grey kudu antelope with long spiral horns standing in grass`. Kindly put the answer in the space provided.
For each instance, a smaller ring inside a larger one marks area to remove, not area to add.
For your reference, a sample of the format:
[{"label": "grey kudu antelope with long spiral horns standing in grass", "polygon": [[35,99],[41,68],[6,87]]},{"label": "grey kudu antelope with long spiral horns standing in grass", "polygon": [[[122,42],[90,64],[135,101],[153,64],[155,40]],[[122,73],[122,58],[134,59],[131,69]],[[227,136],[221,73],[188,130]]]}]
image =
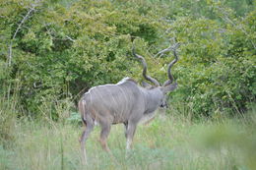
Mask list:
[{"label": "grey kudu antelope with long spiral horns standing in grass", "polygon": [[[101,127],[99,142],[102,148],[109,151],[107,146],[107,136],[112,124],[124,124],[125,137],[127,139],[126,149],[130,149],[136,127],[140,121],[152,119],[154,112],[165,105],[165,95],[174,90],[177,83],[173,83],[170,69],[178,60],[176,48],[178,43],[162,50],[173,51],[175,59],[168,64],[168,80],[163,84],[147,75],[147,63],[144,57],[132,53],[143,64],[143,77],[154,85],[145,84],[147,87],[138,85],[130,78],[124,78],[115,85],[97,85],[89,89],[79,101],[79,111],[82,121],[86,125],[81,137],[81,149],[86,159],[85,142],[93,131],[95,124]],[[159,53],[158,53],[159,54]]]}]

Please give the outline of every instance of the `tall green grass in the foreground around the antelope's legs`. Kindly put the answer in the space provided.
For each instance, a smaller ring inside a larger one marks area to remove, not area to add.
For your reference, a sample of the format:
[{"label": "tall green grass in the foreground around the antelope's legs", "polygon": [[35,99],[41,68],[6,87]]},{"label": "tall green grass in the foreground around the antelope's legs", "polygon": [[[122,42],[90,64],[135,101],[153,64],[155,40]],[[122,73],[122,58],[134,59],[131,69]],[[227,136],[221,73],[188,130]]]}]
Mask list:
[{"label": "tall green grass in the foreground around the antelope's legs", "polygon": [[133,149],[125,157],[123,125],[112,126],[108,145],[113,160],[98,140],[99,127],[86,147],[83,165],[79,137],[72,124],[19,120],[15,140],[0,145],[0,169],[253,169],[255,116],[250,119],[191,122],[181,116],[159,116],[137,129]]}]

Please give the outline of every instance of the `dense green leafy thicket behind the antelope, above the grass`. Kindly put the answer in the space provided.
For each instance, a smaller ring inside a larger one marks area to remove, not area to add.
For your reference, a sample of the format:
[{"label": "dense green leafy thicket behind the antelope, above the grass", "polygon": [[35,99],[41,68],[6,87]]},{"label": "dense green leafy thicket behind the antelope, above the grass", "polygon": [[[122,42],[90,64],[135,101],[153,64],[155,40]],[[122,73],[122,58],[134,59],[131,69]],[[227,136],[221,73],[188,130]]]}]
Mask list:
[{"label": "dense green leafy thicket behind the antelope, above the grass", "polygon": [[16,116],[55,119],[93,85],[141,81],[132,37],[149,74],[163,82],[172,54],[153,54],[175,37],[172,107],[194,116],[242,113],[255,103],[255,7],[252,0],[1,0],[0,101],[15,98]]}]

